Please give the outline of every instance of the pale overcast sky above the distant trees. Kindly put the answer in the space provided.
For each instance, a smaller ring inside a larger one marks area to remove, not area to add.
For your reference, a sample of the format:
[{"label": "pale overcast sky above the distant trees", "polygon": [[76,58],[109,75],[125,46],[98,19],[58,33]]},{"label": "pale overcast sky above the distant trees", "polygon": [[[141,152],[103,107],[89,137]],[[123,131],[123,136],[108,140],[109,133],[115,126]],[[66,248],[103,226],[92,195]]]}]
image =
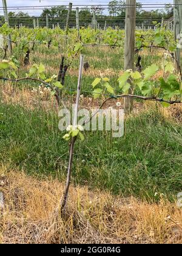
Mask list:
[{"label": "pale overcast sky above the distant trees", "polygon": [[[94,5],[94,4],[108,4],[109,0],[41,0],[41,3],[39,0],[7,0],[7,6],[8,7],[15,7],[15,6],[44,6],[44,5],[67,5],[69,2],[72,2],[73,5],[76,4],[83,4],[83,5]],[[171,4],[173,3],[173,0],[139,0],[138,2],[142,2],[143,4]],[[0,1],[0,7],[2,7],[2,1]],[[21,8],[19,9],[21,10]],[[10,10],[13,11],[13,10]],[[27,10],[23,10],[24,12],[27,12]],[[0,12],[2,14],[2,10]],[[38,15],[38,13],[41,13],[41,10],[29,10],[30,15]]]}]

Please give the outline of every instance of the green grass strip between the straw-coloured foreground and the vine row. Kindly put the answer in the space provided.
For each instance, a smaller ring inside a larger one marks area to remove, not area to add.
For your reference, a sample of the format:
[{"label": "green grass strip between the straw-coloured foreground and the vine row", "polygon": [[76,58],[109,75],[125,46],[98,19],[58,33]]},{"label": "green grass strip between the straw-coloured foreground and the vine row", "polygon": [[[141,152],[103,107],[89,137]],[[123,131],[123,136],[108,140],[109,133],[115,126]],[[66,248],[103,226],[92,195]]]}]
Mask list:
[{"label": "green grass strip between the straw-coloured foreground and the vine row", "polygon": [[[35,176],[65,179],[69,147],[56,112],[1,104],[0,113],[0,161]],[[181,133],[181,123],[155,107],[127,118],[122,138],[86,132],[86,140],[75,146],[73,183],[149,201],[158,201],[155,193],[172,200],[182,191]]]}]

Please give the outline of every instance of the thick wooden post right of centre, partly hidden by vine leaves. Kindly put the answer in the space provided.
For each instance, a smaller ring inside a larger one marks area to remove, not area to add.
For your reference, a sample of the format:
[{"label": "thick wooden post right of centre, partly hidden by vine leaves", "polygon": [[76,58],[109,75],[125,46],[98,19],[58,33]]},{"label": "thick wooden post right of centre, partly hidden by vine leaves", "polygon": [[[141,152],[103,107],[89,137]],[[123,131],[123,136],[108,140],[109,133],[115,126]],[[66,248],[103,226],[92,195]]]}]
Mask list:
[{"label": "thick wooden post right of centre, partly hidden by vine leaves", "polygon": [[[136,26],[136,0],[126,0],[126,26],[124,42],[124,70],[134,69],[135,59],[135,26]],[[130,80],[128,81],[130,83]],[[132,89],[129,90],[129,94]],[[133,100],[124,98],[124,112],[130,113]]]}]

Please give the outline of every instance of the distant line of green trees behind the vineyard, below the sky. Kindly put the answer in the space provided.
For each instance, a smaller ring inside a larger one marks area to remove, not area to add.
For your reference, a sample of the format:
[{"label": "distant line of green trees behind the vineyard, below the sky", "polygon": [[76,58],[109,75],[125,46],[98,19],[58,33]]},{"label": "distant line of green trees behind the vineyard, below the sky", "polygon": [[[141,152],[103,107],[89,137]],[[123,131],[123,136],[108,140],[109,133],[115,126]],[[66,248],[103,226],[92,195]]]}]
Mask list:
[{"label": "distant line of green trees behind the vineyard, below the sky", "polygon": [[[64,5],[57,7],[51,7],[50,9],[42,10],[40,16],[30,16],[29,13],[24,12],[9,12],[9,22],[10,26],[29,26],[33,27],[33,18],[39,18],[39,26],[46,25],[46,15],[49,17],[49,26],[59,24],[60,27],[64,27],[66,24],[68,9]],[[102,5],[91,6],[88,8],[82,8],[79,11],[79,23],[80,26],[88,26],[92,23],[93,12],[96,13],[96,20],[99,23],[99,26],[104,27],[105,21],[107,21],[107,26],[113,27],[118,26],[124,28],[124,19],[125,19],[125,1],[123,0],[113,0],[109,2],[109,5],[106,9]],[[163,10],[144,10],[140,2],[137,2],[136,6],[136,26],[141,26],[143,23],[144,26],[151,26],[153,21],[161,22],[161,19],[167,19],[173,16],[173,7],[172,5],[166,4]],[[70,15],[69,26],[75,26],[76,20],[76,10],[72,10]],[[4,24],[4,16],[0,16],[0,24]]]}]

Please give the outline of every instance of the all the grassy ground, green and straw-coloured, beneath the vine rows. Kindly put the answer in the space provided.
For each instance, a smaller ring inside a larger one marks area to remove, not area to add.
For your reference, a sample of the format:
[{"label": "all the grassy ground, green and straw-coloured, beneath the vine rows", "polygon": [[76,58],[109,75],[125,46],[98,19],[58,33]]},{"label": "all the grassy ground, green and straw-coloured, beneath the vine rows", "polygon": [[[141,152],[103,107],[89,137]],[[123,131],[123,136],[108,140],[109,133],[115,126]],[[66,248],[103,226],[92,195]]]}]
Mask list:
[{"label": "all the grassy ground, green and straw-coloured, beneath the vine rows", "polygon": [[[89,47],[82,53],[90,65],[82,89],[91,91],[102,73],[119,93],[123,49]],[[146,68],[160,63],[162,52],[141,55]],[[54,46],[36,46],[30,53],[30,65],[43,63],[47,76],[58,73],[60,59]],[[67,72],[67,88],[76,88],[78,59]],[[27,70],[19,69],[19,77]],[[85,132],[83,143],[75,144],[69,215],[62,219],[55,208],[67,175],[69,145],[58,129],[55,100],[33,93],[38,86],[1,84],[0,192],[5,208],[0,243],[181,243],[181,210],[174,203],[182,191],[181,107],[165,110],[138,102],[126,117],[124,137]],[[67,105],[74,94],[62,94]],[[100,102],[85,97],[80,105],[98,107]]]}]

